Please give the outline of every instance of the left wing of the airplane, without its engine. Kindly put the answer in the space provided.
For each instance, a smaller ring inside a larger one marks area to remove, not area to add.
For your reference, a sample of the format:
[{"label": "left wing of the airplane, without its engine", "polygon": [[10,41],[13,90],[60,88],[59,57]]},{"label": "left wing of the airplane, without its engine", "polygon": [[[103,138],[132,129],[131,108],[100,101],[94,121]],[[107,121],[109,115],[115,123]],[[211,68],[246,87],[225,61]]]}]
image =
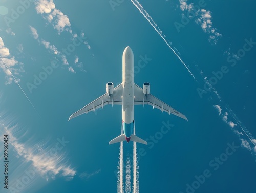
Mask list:
[{"label": "left wing of the airplane, without its engine", "polygon": [[101,97],[97,98],[96,100],[92,101],[91,103],[84,106],[82,109],[78,110],[77,112],[73,113],[70,117],[70,119],[73,119],[81,114],[88,113],[90,111],[95,111],[96,109],[103,108],[105,105],[112,104],[112,106],[115,105],[122,105],[122,95],[123,95],[123,88],[122,84],[117,85],[114,90],[111,97],[106,93],[102,95]]}]

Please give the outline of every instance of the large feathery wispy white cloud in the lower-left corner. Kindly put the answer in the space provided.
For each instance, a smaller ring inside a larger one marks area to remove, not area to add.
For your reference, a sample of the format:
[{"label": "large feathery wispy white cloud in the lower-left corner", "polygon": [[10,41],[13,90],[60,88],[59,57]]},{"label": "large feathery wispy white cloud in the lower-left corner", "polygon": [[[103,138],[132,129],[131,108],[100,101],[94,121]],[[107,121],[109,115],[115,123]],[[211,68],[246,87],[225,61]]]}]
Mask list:
[{"label": "large feathery wispy white cloud in the lower-left corner", "polygon": [[[4,100],[0,92],[0,105]],[[6,111],[0,112],[0,134],[8,135],[9,159],[12,160],[13,168],[8,172],[12,176],[9,178],[8,192],[26,193],[31,189],[37,192],[47,185],[48,180],[72,180],[76,170],[67,160],[69,141],[63,137],[38,141],[18,122],[15,116],[9,113],[7,115]],[[3,138],[0,143],[3,144]],[[3,159],[3,154],[0,155],[1,158]]]}]

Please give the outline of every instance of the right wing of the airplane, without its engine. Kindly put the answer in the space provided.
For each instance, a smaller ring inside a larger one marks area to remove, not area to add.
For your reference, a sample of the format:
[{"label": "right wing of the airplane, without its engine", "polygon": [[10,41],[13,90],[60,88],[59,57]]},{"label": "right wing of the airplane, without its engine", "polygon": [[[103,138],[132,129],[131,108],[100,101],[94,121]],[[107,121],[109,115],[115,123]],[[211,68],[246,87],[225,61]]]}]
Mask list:
[{"label": "right wing of the airplane, without its engine", "polygon": [[148,104],[153,106],[153,108],[160,109],[162,112],[165,111],[167,113],[172,113],[173,115],[176,115],[178,117],[181,117],[182,119],[187,120],[186,116],[182,113],[178,112],[168,104],[162,102],[158,98],[154,97],[152,94],[148,94],[145,98],[145,95],[143,94],[143,89],[140,88],[137,84],[134,85],[134,105],[143,105]]}]

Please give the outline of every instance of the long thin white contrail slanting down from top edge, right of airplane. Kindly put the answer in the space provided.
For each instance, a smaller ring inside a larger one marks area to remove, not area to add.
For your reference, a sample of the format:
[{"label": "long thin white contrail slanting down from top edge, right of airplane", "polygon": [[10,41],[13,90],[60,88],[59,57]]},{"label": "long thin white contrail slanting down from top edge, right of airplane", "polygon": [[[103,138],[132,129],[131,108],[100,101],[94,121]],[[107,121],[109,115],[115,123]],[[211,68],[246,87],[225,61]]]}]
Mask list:
[{"label": "long thin white contrail slanting down from top edge, right of airplane", "polygon": [[[133,0],[131,0],[132,3],[138,8],[138,10],[140,11],[140,13],[146,18],[146,20],[150,23],[150,25],[156,30],[156,32],[160,35],[160,37],[164,40],[164,42],[167,44],[167,46],[174,52],[174,54],[179,58],[179,60],[181,61],[181,63],[183,63],[183,65],[186,67],[186,69],[188,70],[188,72],[190,73],[191,76],[193,76],[193,78],[197,81],[197,79],[195,78],[195,76],[190,72],[190,70],[188,69],[187,65],[182,61],[182,59],[180,58],[180,56],[175,52],[175,50],[170,47],[170,45],[168,44],[168,42],[165,40],[165,38],[162,35],[162,31],[157,27],[157,24],[154,22],[154,20],[152,19],[152,17],[150,16],[150,14],[147,13],[147,11],[145,9],[143,9],[142,5],[135,0],[134,3]],[[158,29],[157,29],[158,28]],[[165,35],[164,35],[165,36]]]}]

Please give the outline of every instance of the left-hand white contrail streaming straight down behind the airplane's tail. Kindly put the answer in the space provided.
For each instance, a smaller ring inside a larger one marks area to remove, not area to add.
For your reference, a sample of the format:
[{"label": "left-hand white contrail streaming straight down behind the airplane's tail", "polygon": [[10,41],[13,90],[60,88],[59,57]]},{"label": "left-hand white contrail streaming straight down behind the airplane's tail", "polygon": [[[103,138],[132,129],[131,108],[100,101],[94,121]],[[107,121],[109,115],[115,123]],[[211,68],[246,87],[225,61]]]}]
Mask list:
[{"label": "left-hand white contrail streaming straight down behind the airplane's tail", "polygon": [[[121,134],[123,134],[123,128],[121,126]],[[123,193],[123,142],[120,142],[120,153],[119,153],[119,166],[117,173],[117,193]]]}]

